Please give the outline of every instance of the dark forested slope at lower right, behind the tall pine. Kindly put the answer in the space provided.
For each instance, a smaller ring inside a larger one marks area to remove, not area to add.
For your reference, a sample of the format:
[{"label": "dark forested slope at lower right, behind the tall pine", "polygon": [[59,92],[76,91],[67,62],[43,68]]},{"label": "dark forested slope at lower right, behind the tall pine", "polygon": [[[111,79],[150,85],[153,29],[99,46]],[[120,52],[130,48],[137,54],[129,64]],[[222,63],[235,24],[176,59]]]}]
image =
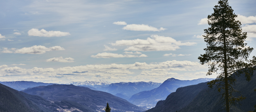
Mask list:
[{"label": "dark forested slope at lower right, behind the tall pine", "polygon": [[[256,105],[256,72],[250,82],[246,81],[245,77],[237,77],[236,86],[234,89],[241,91],[246,97],[240,101],[237,107],[230,109],[236,112],[247,112],[254,110]],[[221,99],[220,93],[215,89],[209,89],[207,82],[181,87],[176,92],[171,93],[166,100],[160,100],[157,105],[147,110],[146,112],[218,112],[222,109],[218,102]],[[238,96],[238,94],[233,94]],[[241,95],[239,95],[241,96]],[[222,111],[220,111],[222,112]]]}]

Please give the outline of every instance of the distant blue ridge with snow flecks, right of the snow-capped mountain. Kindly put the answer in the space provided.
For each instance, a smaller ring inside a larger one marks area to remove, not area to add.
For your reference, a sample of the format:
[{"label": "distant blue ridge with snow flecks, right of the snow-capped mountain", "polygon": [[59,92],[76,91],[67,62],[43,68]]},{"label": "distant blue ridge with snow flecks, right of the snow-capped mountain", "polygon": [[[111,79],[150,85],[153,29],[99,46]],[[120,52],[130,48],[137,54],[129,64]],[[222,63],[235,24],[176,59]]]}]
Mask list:
[{"label": "distant blue ridge with snow flecks, right of the snow-capped mountain", "polygon": [[122,97],[123,95],[122,98],[129,99],[133,94],[141,91],[152,90],[160,85],[161,83],[157,82],[119,82],[111,83],[108,87],[98,87],[97,90],[108,92],[113,95],[118,95],[119,93],[118,97]]}]

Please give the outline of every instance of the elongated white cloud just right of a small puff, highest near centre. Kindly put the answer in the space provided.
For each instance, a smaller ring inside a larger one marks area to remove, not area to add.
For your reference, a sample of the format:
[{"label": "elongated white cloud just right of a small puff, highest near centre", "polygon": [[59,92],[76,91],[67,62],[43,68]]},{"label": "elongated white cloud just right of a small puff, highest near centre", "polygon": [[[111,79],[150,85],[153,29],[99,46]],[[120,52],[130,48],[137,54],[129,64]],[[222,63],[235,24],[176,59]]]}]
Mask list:
[{"label": "elongated white cloud just right of a small puff, highest near centre", "polygon": [[153,26],[145,25],[145,24],[128,24],[125,27],[123,27],[124,30],[131,30],[131,31],[164,31],[163,27],[160,27],[160,29],[157,29]]}]

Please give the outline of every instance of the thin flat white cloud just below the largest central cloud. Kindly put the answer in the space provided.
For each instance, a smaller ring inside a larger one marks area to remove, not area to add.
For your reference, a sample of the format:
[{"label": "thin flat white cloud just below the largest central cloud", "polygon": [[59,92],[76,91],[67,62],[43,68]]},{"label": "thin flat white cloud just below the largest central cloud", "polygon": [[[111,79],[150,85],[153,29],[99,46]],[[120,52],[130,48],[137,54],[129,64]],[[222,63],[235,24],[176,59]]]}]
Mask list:
[{"label": "thin flat white cloud just below the largest central cloud", "polygon": [[147,55],[141,54],[140,56],[136,56],[136,55],[130,55],[130,54],[122,55],[122,54],[105,52],[105,53],[98,53],[97,55],[91,55],[91,57],[93,58],[123,58],[123,57],[132,58],[132,57],[147,57]]}]

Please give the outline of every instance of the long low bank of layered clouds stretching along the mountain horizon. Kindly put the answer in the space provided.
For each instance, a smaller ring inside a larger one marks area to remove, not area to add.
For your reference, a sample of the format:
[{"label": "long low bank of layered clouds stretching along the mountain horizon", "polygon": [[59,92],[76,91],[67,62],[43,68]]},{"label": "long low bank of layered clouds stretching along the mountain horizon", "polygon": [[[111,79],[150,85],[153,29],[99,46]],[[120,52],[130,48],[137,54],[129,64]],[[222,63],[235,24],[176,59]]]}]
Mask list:
[{"label": "long low bank of layered clouds stretching along the mountain horizon", "polygon": [[[61,80],[61,79],[104,79],[115,82],[116,80],[131,79],[138,81],[142,78],[153,78],[150,81],[166,80],[169,77],[180,76],[174,71],[196,71],[207,66],[198,62],[191,61],[165,61],[158,63],[135,62],[132,64],[87,64],[85,66],[63,67],[63,68],[37,68],[24,69],[20,67],[0,66],[0,76],[2,80]],[[132,70],[142,70],[139,75],[134,74]],[[144,80],[144,79],[143,79]]]}]

